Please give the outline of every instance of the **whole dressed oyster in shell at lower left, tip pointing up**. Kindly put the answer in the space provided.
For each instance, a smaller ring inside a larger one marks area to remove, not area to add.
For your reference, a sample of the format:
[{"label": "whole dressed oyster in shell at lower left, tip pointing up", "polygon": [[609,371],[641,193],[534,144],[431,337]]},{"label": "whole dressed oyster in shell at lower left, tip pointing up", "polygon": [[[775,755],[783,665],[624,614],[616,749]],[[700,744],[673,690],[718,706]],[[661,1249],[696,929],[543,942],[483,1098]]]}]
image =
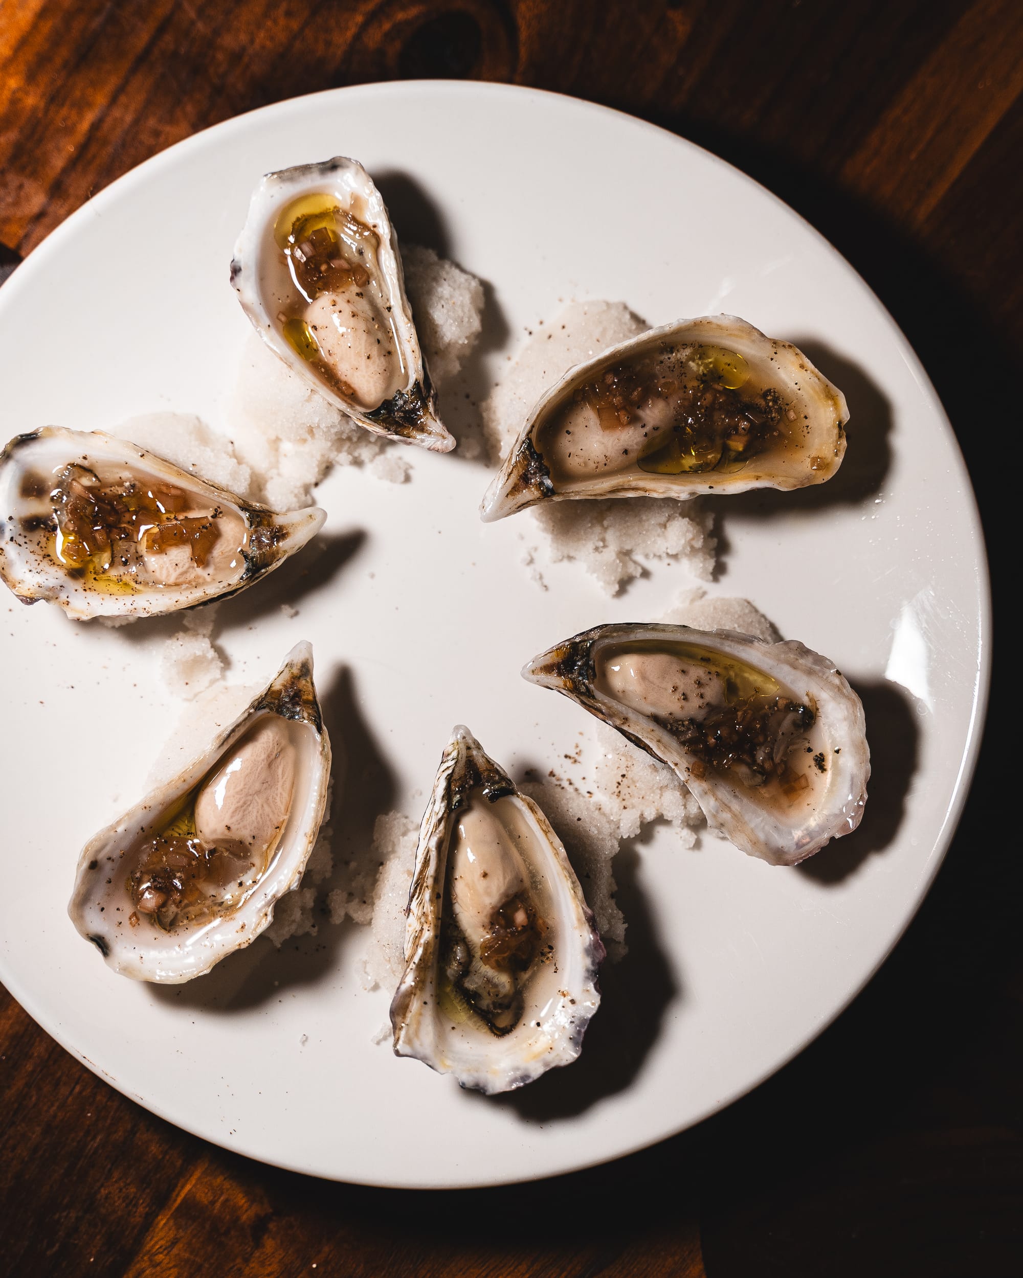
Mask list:
[{"label": "whole dressed oyster in shell at lower left, tip pointing up", "polygon": [[86,843],[72,921],[123,976],[202,975],[251,944],[298,887],[329,780],[312,648],[301,643],[208,750]]}]

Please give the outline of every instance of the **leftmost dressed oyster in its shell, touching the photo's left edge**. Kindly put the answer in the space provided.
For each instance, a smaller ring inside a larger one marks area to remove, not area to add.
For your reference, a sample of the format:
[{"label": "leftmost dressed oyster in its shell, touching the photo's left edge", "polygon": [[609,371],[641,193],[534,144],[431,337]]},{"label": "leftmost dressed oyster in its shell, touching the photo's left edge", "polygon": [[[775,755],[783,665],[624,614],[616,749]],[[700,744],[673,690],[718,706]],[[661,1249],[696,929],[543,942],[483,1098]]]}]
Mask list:
[{"label": "leftmost dressed oyster in its shell, touching the photo's left edge", "polygon": [[325,519],[276,514],[102,431],[50,426],[0,452],[0,576],[78,620],[237,594]]}]

